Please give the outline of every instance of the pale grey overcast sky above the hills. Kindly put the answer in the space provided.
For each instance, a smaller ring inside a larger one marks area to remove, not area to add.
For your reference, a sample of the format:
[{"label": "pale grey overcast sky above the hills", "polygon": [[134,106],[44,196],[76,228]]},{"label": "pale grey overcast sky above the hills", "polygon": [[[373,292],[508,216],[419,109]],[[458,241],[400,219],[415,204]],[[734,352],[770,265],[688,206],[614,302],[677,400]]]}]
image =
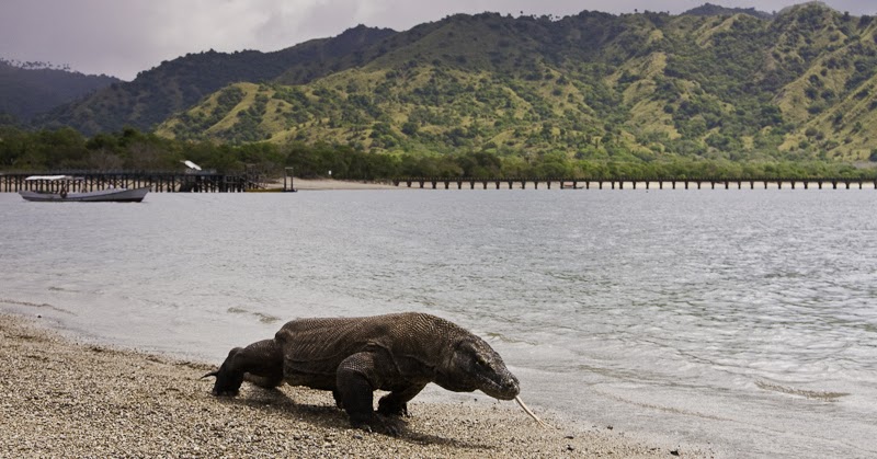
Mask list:
[{"label": "pale grey overcast sky above the hills", "polygon": [[[405,31],[454,13],[576,14],[669,11],[707,0],[0,0],[0,58],[69,65],[132,80],[138,71],[207,49],[272,51],[365,24]],[[778,11],[800,0],[709,0]],[[854,15],[875,0],[828,0]]]}]

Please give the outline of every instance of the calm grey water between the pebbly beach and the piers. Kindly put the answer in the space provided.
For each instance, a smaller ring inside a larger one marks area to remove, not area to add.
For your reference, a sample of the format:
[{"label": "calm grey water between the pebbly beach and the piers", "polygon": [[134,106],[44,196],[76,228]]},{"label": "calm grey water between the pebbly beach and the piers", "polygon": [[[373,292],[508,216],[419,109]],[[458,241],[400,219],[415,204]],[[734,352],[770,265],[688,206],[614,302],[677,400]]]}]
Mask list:
[{"label": "calm grey water between the pebbly beach and the piers", "polygon": [[217,363],[295,317],[421,310],[488,338],[534,409],[873,457],[876,216],[873,190],[0,194],[0,308]]}]

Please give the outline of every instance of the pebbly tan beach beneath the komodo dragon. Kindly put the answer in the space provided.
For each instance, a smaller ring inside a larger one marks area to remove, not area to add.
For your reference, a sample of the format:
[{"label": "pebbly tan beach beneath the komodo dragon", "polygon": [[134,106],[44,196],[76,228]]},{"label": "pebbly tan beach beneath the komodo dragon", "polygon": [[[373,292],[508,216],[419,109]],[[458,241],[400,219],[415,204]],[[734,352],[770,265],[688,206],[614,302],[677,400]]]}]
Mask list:
[{"label": "pebbly tan beach beneath the komodo dragon", "polygon": [[539,428],[513,403],[410,403],[402,434],[351,428],[328,392],[248,383],[209,394],[212,364],[77,343],[0,313],[0,457],[713,457],[610,426]]}]

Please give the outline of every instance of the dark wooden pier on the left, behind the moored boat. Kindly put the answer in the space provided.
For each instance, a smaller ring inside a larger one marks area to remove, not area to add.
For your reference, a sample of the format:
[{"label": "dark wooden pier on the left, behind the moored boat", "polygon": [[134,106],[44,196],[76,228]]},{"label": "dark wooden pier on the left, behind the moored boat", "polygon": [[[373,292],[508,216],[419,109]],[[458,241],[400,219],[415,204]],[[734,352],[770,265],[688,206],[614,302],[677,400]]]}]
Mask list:
[{"label": "dark wooden pier on the left, behind the moored boat", "polygon": [[[31,175],[69,175],[76,177],[76,190],[93,192],[106,188],[151,187],[152,193],[242,193],[258,185],[246,175],[209,172],[0,172],[0,192],[57,192],[61,183],[43,180],[26,181]],[[72,180],[71,180],[72,181]]]}]

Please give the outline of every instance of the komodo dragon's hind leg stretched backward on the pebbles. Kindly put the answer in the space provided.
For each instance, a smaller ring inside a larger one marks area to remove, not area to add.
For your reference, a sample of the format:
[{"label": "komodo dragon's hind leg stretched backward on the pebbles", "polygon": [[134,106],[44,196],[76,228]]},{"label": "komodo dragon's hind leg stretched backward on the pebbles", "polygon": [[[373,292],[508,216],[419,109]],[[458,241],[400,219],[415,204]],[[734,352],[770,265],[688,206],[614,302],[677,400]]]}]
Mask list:
[{"label": "komodo dragon's hind leg stretched backward on the pebbles", "polygon": [[275,388],[283,382],[283,353],[274,340],[235,347],[219,369],[207,376],[216,377],[213,394],[217,397],[237,395],[244,377],[259,387]]}]

